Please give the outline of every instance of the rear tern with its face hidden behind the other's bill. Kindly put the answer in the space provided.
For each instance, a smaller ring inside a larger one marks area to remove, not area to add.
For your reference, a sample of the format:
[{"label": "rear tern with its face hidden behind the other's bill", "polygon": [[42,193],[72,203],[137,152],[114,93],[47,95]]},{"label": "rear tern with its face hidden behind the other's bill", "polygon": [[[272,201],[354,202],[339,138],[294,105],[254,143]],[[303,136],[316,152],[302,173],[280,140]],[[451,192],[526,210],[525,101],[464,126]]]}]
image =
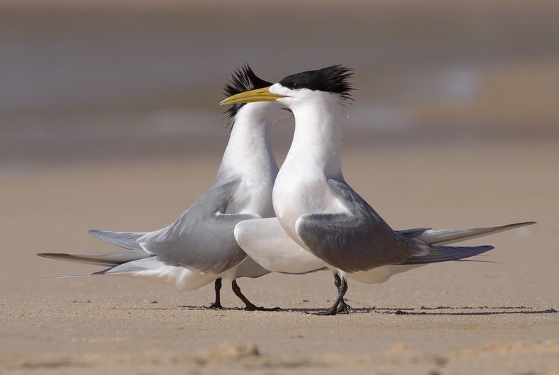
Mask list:
[{"label": "rear tern with its face hidden behind the other's bill", "polygon": [[[226,95],[270,86],[245,65],[224,87]],[[227,111],[232,126],[214,184],[169,226],[148,233],[90,230],[101,240],[124,249],[111,253],[38,253],[38,256],[107,266],[90,274],[123,275],[194,290],[215,281],[215,302],[222,308],[222,278],[247,310],[256,307],[242,294],[237,277],[261,277],[270,271],[254,262],[233,237],[243,220],[274,216],[272,189],[278,172],[270,126],[287,112],[273,103],[237,104]]]}]

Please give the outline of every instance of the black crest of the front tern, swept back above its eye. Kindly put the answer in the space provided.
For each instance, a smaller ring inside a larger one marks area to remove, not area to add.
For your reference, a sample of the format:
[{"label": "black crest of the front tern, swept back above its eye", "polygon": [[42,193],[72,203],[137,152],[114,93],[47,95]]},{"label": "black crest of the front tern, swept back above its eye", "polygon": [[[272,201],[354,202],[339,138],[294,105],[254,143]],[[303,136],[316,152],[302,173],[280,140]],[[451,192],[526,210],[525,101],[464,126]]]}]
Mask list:
[{"label": "black crest of the front tern, swept back above its eye", "polygon": [[292,90],[310,89],[340,94],[342,98],[351,98],[351,91],[354,90],[350,82],[354,73],[350,68],[342,65],[328,66],[318,71],[307,71],[288,75],[279,81],[284,87]]}]

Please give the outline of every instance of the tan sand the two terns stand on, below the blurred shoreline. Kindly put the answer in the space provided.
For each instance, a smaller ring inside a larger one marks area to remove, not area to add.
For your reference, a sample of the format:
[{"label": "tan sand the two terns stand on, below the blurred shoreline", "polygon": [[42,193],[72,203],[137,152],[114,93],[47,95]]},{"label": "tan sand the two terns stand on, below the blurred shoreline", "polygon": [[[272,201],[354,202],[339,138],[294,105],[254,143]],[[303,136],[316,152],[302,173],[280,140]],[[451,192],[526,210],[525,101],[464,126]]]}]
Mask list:
[{"label": "tan sand the two terns stand on, below the blurred shoreline", "polygon": [[[347,180],[393,228],[537,226],[474,243],[496,263],[429,265],[381,285],[350,281],[354,307],[313,316],[331,274],[241,279],[247,312],[213,288],[122,277],[43,280],[94,267],[40,251],[110,251],[90,228],[151,230],[212,182],[218,154],[78,163],[1,177],[0,374],[558,374],[559,145],[347,147]],[[407,314],[396,314],[402,311]]]}]

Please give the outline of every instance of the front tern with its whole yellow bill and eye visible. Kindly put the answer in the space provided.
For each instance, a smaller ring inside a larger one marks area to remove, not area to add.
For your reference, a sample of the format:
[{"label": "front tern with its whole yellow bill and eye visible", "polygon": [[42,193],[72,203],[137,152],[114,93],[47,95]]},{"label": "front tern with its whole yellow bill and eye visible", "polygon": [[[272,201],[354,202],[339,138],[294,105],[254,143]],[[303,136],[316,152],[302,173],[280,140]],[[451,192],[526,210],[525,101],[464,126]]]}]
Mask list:
[{"label": "front tern with its whole yellow bill and eye visible", "polygon": [[293,112],[293,141],[273,188],[277,219],[243,221],[235,227],[235,238],[268,270],[305,273],[305,267],[321,265],[332,270],[338,295],[332,307],[321,312],[325,315],[347,312],[343,297],[348,277],[377,283],[421,265],[476,256],[493,247],[445,244],[534,223],[393,230],[342,174],[342,128],[353,90],[352,75],[344,66],[329,66],[289,75],[270,87],[220,102],[277,101]]}]

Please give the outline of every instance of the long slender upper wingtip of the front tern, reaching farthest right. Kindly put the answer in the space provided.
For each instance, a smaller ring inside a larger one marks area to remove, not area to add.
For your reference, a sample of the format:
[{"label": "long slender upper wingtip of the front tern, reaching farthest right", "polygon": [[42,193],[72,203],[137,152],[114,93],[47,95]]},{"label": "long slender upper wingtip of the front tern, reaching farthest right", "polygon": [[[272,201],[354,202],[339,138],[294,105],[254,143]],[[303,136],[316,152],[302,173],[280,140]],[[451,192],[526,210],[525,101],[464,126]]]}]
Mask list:
[{"label": "long slender upper wingtip of the front tern, reaching farthest right", "polygon": [[[504,232],[505,230],[520,228],[521,226],[530,226],[535,223],[535,221],[525,221],[523,223],[507,224],[506,226],[488,226],[484,228],[427,229],[422,233],[418,232],[419,235],[417,238],[430,245],[452,244],[454,242],[471,240],[472,238],[484,237],[486,235]],[[402,230],[402,234],[407,234],[408,231],[411,232],[413,230]]]}]

